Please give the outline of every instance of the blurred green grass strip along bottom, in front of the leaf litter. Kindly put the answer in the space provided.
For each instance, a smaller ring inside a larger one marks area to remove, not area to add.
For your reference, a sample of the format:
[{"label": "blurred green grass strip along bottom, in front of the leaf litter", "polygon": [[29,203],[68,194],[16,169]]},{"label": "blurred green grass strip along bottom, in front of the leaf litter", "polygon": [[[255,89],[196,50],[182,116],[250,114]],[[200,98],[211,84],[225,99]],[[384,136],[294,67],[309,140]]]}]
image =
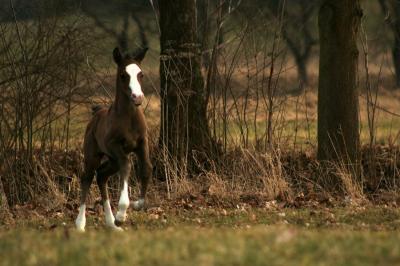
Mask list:
[{"label": "blurred green grass strip along bottom, in front of the leaf litter", "polygon": [[399,232],[181,227],[1,234],[2,265],[396,265]]}]

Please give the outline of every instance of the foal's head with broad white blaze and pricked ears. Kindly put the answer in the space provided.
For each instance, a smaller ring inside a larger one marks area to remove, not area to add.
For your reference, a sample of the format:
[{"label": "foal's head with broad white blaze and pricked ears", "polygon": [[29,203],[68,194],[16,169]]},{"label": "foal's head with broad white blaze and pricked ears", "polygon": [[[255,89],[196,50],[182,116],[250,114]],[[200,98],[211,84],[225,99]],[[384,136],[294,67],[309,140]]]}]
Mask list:
[{"label": "foal's head with broad white blaze and pricked ears", "polygon": [[147,48],[144,48],[123,56],[118,47],[113,51],[114,61],[118,65],[117,90],[126,94],[136,106],[141,105],[144,99],[140,63],[146,52]]}]

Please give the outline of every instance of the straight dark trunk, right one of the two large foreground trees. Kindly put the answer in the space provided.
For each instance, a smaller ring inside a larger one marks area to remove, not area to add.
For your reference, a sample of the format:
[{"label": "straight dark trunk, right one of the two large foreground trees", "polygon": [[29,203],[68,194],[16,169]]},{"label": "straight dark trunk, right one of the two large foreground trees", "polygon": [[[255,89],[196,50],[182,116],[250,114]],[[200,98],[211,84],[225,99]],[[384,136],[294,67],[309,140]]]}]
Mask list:
[{"label": "straight dark trunk, right one of the two large foreground trees", "polygon": [[325,0],[319,13],[318,159],[356,164],[359,149],[359,0]]}]

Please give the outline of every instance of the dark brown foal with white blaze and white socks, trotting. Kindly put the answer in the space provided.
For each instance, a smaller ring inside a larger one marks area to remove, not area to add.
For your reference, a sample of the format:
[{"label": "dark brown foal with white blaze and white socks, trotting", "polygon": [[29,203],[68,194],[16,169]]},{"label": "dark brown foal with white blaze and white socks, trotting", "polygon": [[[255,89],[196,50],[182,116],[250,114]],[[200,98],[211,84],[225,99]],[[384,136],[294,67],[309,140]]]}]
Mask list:
[{"label": "dark brown foal with white blaze and white socks, trotting", "polygon": [[[113,57],[118,65],[115,101],[110,108],[93,108],[93,118],[89,122],[84,139],[84,174],[81,177],[81,200],[79,215],[75,221],[80,231],[85,231],[86,197],[96,175],[100,189],[106,224],[115,230],[122,230],[129,206],[128,179],[130,175],[129,154],[134,152],[138,158],[140,198],[133,207],[137,210],[144,205],[147,184],[152,174],[149,159],[147,125],[140,107],[144,95],[141,84],[143,74],[140,63],[147,48],[134,55],[122,56],[115,48]],[[107,192],[108,178],[118,172],[123,181],[116,217],[111,210]]]}]

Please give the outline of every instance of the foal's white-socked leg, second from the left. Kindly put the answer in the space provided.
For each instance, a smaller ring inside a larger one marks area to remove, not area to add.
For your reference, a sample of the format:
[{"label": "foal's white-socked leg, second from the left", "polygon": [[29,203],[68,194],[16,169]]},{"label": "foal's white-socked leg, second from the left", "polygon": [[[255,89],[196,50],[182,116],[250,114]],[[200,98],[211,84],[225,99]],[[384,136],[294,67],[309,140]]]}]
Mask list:
[{"label": "foal's white-socked leg, second from the left", "polygon": [[106,225],[118,231],[122,231],[121,227],[115,225],[115,218],[111,210],[110,200],[107,191],[108,178],[118,171],[118,164],[115,161],[108,160],[97,169],[97,184],[100,189],[103,201],[104,213],[106,216]]}]

